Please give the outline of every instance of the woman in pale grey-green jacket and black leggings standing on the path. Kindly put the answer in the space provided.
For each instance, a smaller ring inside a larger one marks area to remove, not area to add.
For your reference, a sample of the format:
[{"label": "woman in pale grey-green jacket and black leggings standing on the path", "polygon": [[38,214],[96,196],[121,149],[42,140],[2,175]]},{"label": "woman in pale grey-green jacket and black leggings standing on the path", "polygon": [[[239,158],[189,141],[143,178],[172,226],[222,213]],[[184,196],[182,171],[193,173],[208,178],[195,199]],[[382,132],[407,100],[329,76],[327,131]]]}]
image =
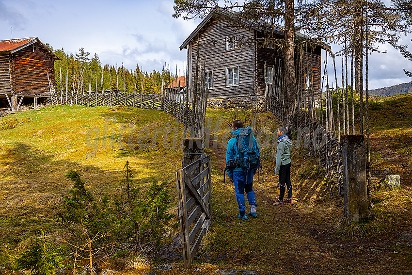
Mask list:
[{"label": "woman in pale grey-green jacket and black leggings standing on the path", "polygon": [[[287,127],[279,127],[277,129],[278,147],[276,149],[276,168],[275,174],[279,175],[280,193],[279,199],[272,202],[272,205],[284,205],[285,203],[293,203],[292,201],[292,182],[290,181],[290,149],[292,142],[290,141],[290,130]],[[284,199],[285,190],[287,187],[287,198]]]}]

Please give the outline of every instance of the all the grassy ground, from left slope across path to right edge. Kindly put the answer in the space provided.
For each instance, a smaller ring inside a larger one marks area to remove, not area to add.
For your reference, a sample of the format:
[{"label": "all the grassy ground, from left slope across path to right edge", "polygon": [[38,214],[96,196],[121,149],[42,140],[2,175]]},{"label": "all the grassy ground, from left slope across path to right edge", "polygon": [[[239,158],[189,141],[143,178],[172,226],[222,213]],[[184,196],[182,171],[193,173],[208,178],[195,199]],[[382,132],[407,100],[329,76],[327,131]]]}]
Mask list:
[{"label": "all the grassy ground, from left slope across path to right edge", "polygon": [[[401,274],[408,270],[410,252],[396,248],[395,243],[401,231],[412,228],[411,99],[384,98],[371,108],[372,183],[385,174],[400,174],[403,187],[374,194],[372,211],[377,220],[369,229],[361,228],[364,237],[356,239],[350,232],[335,230],[343,216],[343,201],[330,197],[317,160],[303,149],[294,149],[292,155],[296,203],[278,208],[270,205],[279,192],[273,173],[273,144],[262,148],[264,169],[254,178],[258,218],[238,220],[234,188],[230,181],[222,183],[224,140],[228,137],[223,136],[236,115],[246,121],[248,117],[242,112],[209,110],[206,127],[211,126],[212,135],[205,151],[212,156],[213,221],[195,267],[204,273],[218,268],[282,274]],[[257,127],[266,131],[262,141],[272,140],[277,126],[269,113],[260,114]],[[181,168],[182,130],[183,125],[165,113],[121,105],[49,106],[1,117],[3,252],[17,255],[30,238],[40,235],[40,229],[56,243],[60,241],[56,212],[72,185],[64,177],[69,169],[78,171],[94,194],[115,194],[122,168],[129,161],[143,186],[152,180],[168,183],[174,197],[171,211],[177,211],[174,171]],[[219,142],[214,143],[218,136]],[[359,228],[351,230],[360,232]],[[388,260],[381,262],[382,257]],[[201,274],[184,271],[181,262],[174,267],[170,274]]]}]

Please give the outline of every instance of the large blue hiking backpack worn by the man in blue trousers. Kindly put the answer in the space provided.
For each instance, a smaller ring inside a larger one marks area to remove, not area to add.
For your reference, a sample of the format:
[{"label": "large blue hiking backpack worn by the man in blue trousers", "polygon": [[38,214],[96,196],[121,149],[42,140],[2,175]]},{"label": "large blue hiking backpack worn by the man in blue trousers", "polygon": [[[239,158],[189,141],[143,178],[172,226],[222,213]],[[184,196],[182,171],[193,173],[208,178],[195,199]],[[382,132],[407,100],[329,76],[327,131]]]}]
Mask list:
[{"label": "large blue hiking backpack worn by the man in blue trousers", "polygon": [[227,162],[223,172],[223,183],[225,182],[225,172],[227,169],[235,169],[242,167],[245,173],[251,169],[262,168],[260,164],[260,151],[256,140],[253,137],[253,130],[250,127],[240,129],[239,135],[234,134],[232,138],[236,138],[236,146],[238,152],[236,159]]}]

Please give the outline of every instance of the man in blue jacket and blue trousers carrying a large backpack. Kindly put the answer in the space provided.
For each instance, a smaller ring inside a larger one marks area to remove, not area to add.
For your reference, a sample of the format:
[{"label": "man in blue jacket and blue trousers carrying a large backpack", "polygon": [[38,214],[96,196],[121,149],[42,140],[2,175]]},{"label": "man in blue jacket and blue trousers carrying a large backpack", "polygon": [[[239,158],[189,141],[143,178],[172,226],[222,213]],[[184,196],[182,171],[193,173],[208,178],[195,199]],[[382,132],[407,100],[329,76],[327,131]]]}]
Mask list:
[{"label": "man in blue jacket and blue trousers carrying a large backpack", "polygon": [[243,127],[241,120],[235,120],[232,123],[232,131],[230,131],[232,138],[227,143],[225,170],[235,185],[236,201],[239,207],[238,218],[247,220],[244,192],[251,206],[248,214],[257,218],[253,176],[261,165],[259,146],[253,136],[253,130],[250,127]]}]

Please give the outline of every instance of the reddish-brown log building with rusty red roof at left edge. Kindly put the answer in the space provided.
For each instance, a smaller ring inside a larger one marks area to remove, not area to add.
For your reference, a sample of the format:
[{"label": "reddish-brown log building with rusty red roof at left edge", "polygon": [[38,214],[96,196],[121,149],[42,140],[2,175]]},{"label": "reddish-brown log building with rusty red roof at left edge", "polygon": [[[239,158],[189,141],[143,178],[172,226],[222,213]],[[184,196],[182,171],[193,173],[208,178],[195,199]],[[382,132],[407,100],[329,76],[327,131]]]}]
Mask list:
[{"label": "reddish-brown log building with rusty red roof at left edge", "polygon": [[6,94],[25,102],[49,97],[58,59],[37,37],[0,41],[0,107],[9,105]]}]

